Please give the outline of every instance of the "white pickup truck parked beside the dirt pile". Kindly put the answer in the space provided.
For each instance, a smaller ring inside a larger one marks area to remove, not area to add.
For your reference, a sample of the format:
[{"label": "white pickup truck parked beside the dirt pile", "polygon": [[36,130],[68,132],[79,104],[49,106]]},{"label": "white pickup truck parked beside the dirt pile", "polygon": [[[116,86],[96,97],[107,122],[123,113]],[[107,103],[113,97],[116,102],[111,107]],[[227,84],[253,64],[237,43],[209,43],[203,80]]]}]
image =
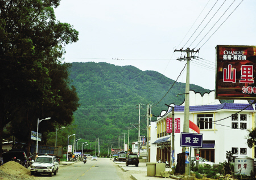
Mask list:
[{"label": "white pickup truck parked beside the dirt pile", "polygon": [[36,160],[33,162],[32,160],[32,165],[30,169],[31,175],[34,174],[49,174],[52,176],[52,173],[54,175],[57,174],[58,169],[59,169],[59,162],[56,161],[55,156],[38,156]]}]

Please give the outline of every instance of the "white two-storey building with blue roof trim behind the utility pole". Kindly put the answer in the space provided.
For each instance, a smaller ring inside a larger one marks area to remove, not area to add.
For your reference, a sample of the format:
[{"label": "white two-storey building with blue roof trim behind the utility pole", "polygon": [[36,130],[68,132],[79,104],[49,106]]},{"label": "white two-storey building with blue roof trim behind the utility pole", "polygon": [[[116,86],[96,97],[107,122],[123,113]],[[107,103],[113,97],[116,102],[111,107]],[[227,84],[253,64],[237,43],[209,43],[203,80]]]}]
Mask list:
[{"label": "white two-storey building with blue roof trim behind the utility pole", "polygon": [[[245,100],[221,104],[214,99],[214,91],[203,96],[190,91],[189,104],[189,119],[200,127],[200,134],[203,134],[200,157],[216,164],[226,160],[226,151],[232,151],[233,157],[246,155],[254,158],[254,147],[249,148],[246,144],[247,130],[254,128],[254,105]],[[150,162],[171,160],[171,135],[166,133],[166,118],[171,117],[171,110],[168,108],[167,112],[162,112],[154,122],[156,125],[151,122]],[[174,113],[175,118],[180,118],[180,132],[183,132],[184,103],[175,105]],[[189,132],[197,133],[191,129]],[[180,134],[175,133],[175,161],[177,153],[181,152]],[[192,148],[192,157],[195,155],[196,148]]]}]

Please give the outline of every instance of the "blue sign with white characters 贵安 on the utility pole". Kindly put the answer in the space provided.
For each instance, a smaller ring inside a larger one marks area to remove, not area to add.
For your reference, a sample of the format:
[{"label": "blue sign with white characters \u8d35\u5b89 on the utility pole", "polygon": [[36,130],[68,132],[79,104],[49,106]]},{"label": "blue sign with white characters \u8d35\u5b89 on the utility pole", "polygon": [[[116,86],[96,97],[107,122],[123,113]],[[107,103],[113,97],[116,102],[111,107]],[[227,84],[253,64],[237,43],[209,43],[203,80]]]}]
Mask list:
[{"label": "blue sign with white characters \u8d35\u5b89 on the utility pole", "polygon": [[203,134],[181,132],[180,146],[203,147]]}]

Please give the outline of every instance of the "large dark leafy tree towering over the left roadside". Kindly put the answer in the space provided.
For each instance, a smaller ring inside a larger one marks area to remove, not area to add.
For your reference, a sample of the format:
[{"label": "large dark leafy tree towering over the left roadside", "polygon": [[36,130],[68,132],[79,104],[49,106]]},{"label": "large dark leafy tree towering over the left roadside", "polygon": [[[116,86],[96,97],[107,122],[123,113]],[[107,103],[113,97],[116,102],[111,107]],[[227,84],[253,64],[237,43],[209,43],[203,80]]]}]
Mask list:
[{"label": "large dark leafy tree towering over the left roadside", "polygon": [[[1,142],[7,123],[12,122],[11,127],[23,125],[31,132],[36,120],[45,118],[44,112],[53,106],[69,117],[67,123],[72,121],[78,98],[75,88],[68,85],[69,66],[62,65],[60,58],[65,53],[64,46],[76,42],[79,33],[72,25],[55,19],[53,7],[59,4],[60,0],[5,0],[0,3]],[[52,84],[58,77],[61,81]],[[64,97],[67,94],[69,96]],[[74,106],[68,109],[70,103]]]}]

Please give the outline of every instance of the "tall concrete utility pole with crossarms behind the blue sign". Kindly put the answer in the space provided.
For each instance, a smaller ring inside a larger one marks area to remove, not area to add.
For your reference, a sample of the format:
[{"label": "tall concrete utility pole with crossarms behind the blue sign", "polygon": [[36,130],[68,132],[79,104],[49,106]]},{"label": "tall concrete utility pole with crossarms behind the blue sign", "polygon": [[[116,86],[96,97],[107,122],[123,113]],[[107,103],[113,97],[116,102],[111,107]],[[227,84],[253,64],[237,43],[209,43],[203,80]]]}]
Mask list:
[{"label": "tall concrete utility pole with crossarms behind the blue sign", "polygon": [[[185,52],[187,53],[187,57],[184,58],[179,58],[177,60],[185,60],[187,61],[187,76],[186,76],[186,87],[185,87],[185,106],[184,106],[184,123],[183,123],[183,132],[189,132],[189,62],[191,58],[194,56],[190,57],[190,53],[198,53],[199,50],[190,50],[187,48],[186,50],[180,49],[180,50],[174,50],[174,52]],[[182,152],[185,152],[185,147],[182,148]],[[189,166],[188,164],[185,164],[185,175],[190,174],[189,172]]]}]

